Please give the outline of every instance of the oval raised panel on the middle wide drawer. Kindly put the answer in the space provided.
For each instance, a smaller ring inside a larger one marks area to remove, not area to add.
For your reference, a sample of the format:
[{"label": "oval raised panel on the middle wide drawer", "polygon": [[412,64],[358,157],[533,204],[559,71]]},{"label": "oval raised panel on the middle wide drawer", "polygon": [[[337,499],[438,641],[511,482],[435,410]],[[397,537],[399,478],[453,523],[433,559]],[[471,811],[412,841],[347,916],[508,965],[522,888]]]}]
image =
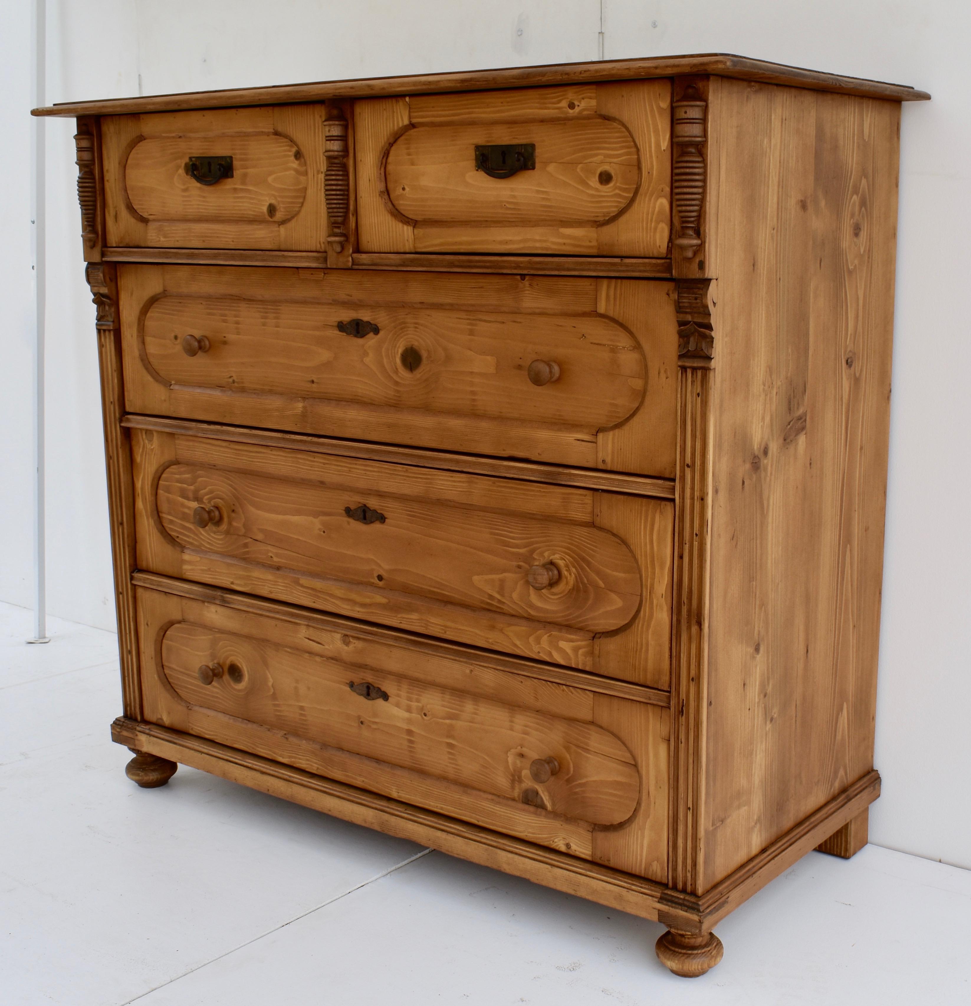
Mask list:
[{"label": "oval raised panel on the middle wide drawer", "polygon": [[[610,531],[369,483],[172,465],[155,498],[163,528],[183,548],[234,562],[590,633],[619,629],[637,612],[637,559]],[[218,519],[199,526],[200,507]],[[355,519],[348,510],[358,507],[378,516]],[[556,582],[536,590],[529,570],[547,562]]]}]

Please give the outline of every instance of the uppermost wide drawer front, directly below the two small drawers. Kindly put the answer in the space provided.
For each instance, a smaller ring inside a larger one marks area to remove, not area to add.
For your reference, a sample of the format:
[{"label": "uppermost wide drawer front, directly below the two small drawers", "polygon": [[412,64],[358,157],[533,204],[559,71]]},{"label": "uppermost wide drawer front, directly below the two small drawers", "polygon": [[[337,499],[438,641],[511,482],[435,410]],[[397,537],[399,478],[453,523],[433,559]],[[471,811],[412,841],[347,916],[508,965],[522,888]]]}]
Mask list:
[{"label": "uppermost wide drawer front, directly below the two small drawers", "polygon": [[130,411],[671,478],[671,285],[124,266]]}]

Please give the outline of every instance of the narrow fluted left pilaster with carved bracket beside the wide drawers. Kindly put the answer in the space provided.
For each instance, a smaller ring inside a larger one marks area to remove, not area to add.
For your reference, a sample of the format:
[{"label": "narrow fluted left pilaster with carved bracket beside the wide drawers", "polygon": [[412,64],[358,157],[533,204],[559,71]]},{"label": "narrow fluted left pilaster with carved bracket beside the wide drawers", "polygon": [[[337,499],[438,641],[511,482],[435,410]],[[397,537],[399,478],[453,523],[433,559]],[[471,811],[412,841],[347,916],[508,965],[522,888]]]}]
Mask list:
[{"label": "narrow fluted left pilaster with carved bracket beside the wide drawers", "polygon": [[142,685],[139,676],[135,591],[131,581],[136,556],[134,479],[131,435],[121,423],[125,411],[125,388],[116,267],[90,263],[85,275],[97,308],[98,366],[105,431],[105,467],[108,475],[108,513],[111,520],[122,704],[126,716],[141,719]]}]

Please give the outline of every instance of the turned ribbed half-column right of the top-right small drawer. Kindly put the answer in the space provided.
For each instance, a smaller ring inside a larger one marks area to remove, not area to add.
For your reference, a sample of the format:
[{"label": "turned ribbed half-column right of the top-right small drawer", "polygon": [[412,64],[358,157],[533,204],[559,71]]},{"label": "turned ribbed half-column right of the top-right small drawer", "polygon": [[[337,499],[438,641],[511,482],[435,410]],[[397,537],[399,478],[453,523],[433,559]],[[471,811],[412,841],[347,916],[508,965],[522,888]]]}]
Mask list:
[{"label": "turned ribbed half-column right of the top-right small drawer", "polygon": [[705,163],[701,148],[706,139],[706,111],[707,102],[695,83],[688,83],[680,99],[672,103],[674,165],[671,189],[677,228],[674,247],[687,260],[694,258],[702,241]]}]

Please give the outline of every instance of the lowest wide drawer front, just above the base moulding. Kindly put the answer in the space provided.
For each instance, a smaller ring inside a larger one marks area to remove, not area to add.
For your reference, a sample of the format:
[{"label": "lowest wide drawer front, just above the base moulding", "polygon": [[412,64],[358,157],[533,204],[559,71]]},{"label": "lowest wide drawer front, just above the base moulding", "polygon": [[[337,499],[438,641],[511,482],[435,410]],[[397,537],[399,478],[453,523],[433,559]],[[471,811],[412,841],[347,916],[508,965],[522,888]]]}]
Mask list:
[{"label": "lowest wide drawer front, just above the base moulding", "polygon": [[137,594],[149,721],[666,880],[666,708],[285,606]]}]

